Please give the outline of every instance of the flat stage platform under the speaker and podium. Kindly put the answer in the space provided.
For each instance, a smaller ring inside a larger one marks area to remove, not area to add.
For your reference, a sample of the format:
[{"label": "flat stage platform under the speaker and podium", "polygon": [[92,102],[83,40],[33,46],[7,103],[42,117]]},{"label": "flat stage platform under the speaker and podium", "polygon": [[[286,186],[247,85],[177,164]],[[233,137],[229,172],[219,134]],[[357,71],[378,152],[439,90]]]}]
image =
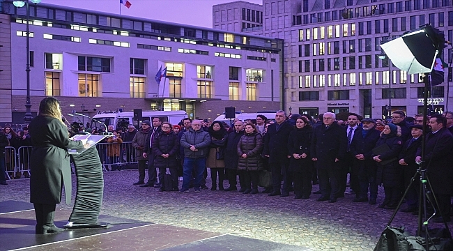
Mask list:
[{"label": "flat stage platform under the speaker and podium", "polygon": [[[57,209],[55,225],[57,227],[65,225],[70,213],[69,210]],[[99,221],[109,223],[109,227],[37,235],[33,204],[23,201],[2,201],[0,202],[0,250],[312,250],[295,245],[109,215],[100,215]]]}]

